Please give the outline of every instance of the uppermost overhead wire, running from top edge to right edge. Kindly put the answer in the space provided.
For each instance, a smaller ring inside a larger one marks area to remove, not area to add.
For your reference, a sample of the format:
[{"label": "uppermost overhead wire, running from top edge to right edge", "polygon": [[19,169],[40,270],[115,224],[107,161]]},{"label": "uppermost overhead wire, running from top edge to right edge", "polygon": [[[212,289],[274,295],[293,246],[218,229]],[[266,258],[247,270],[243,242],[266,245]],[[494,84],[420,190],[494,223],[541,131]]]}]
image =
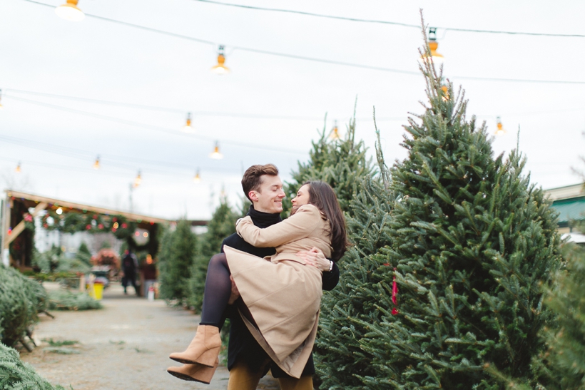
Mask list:
[{"label": "uppermost overhead wire, running from top edge to right edge", "polygon": [[[276,9],[276,8],[265,8],[259,6],[245,6],[243,4],[231,4],[231,3],[223,3],[222,1],[214,1],[214,0],[193,0],[199,1],[201,3],[209,3],[209,4],[218,4],[221,6],[232,6],[237,8],[243,9],[253,9],[258,11],[275,11],[275,12],[283,12],[286,14],[298,14],[298,15],[305,15],[305,16],[315,16],[319,18],[326,18],[326,19],[337,19],[342,21],[359,21],[362,23],[375,23],[375,24],[390,24],[392,26],[402,26],[402,27],[410,27],[414,29],[420,29],[420,25],[418,24],[407,24],[401,23],[397,21],[382,21],[376,19],[358,19],[358,18],[348,18],[346,16],[333,16],[333,15],[325,15],[325,14],[315,14],[313,12],[306,12],[306,11],[295,11],[291,9]],[[478,29],[457,29],[453,27],[437,27],[437,29],[442,29],[445,31],[461,31],[461,32],[469,32],[469,33],[486,33],[486,34],[510,34],[510,35],[529,35],[529,36],[556,36],[556,37],[564,37],[564,38],[584,38],[584,34],[547,34],[547,33],[528,33],[522,31],[498,31],[498,30],[478,30]]]}]

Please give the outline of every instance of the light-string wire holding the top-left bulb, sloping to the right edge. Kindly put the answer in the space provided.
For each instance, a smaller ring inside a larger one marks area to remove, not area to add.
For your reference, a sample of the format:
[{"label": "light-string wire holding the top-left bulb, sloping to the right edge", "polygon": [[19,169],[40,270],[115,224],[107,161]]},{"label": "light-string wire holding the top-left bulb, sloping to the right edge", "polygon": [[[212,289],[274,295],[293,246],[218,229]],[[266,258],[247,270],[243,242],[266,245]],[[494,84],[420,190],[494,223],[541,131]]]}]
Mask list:
[{"label": "light-string wire holding the top-left bulb, sloping to the right edge", "polygon": [[[24,0],[24,1],[28,1],[29,3],[33,3],[33,4],[39,4],[41,6],[48,6],[51,8],[56,8],[55,6],[52,6],[50,4],[44,4],[41,3],[39,1],[34,1],[34,0]],[[199,1],[199,0],[195,0],[195,1]],[[124,26],[130,26],[130,27],[135,27],[137,29],[143,29],[145,31],[151,31],[157,34],[164,34],[167,36],[173,36],[175,38],[180,38],[180,39],[187,39],[189,41],[195,41],[198,43],[207,43],[210,45],[215,46],[215,43],[211,42],[211,41],[206,41],[204,39],[198,39],[198,38],[193,38],[192,36],[185,36],[182,34],[175,34],[175,33],[171,33],[168,31],[163,31],[163,30],[159,30],[159,29],[153,29],[151,27],[146,27],[146,26],[140,26],[138,24],[132,24],[132,23],[128,23],[125,21],[118,21],[115,19],[109,19],[109,18],[105,18],[103,16],[96,16],[96,15],[92,15],[92,14],[85,14],[88,17],[91,18],[95,18],[95,19],[100,19],[103,21],[110,21],[112,23],[116,23],[116,24],[122,24]],[[480,30],[478,30],[480,31]],[[335,60],[329,60],[326,58],[314,58],[314,57],[307,57],[307,56],[299,56],[296,54],[288,54],[288,53],[279,53],[276,51],[268,51],[268,50],[262,50],[262,49],[258,49],[258,48],[248,48],[245,46],[231,46],[228,45],[230,48],[233,48],[234,50],[241,50],[241,51],[248,51],[250,53],[260,53],[260,54],[267,54],[270,56],[279,56],[279,57],[284,57],[284,58],[294,58],[297,60],[302,60],[302,61],[312,61],[312,62],[319,62],[319,63],[327,63],[330,65],[340,65],[340,66],[350,66],[353,68],[362,68],[362,69],[370,69],[372,71],[384,71],[384,72],[389,72],[389,73],[400,73],[400,74],[407,74],[410,76],[419,76],[420,73],[418,71],[405,71],[402,69],[394,69],[394,68],[385,68],[382,66],[370,66],[370,65],[364,65],[364,64],[360,64],[360,63],[350,63],[350,62],[345,62],[345,61],[335,61]],[[495,78],[495,77],[478,77],[478,76],[450,76],[450,78],[461,78],[463,80],[475,80],[475,81],[502,81],[502,82],[513,82],[513,83],[554,83],[554,84],[585,84],[585,81],[564,81],[564,80],[534,80],[534,79],[524,79],[524,78]]]}]

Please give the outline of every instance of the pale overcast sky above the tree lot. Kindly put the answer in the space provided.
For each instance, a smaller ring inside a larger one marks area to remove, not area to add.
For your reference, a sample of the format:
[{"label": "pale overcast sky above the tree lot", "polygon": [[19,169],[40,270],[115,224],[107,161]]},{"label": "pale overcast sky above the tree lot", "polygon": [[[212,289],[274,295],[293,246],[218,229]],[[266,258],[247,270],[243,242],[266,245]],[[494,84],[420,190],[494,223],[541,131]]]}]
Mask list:
[{"label": "pale overcast sky above the tree lot", "polygon": [[[59,6],[65,0],[39,0]],[[495,153],[517,145],[543,188],[579,183],[584,168],[585,38],[482,34],[450,29],[585,34],[584,1],[241,1],[231,4],[437,26],[444,73],[469,98],[468,116],[500,116],[506,135]],[[241,197],[245,168],[275,163],[284,180],[306,161],[317,129],[352,116],[373,151],[375,106],[385,155],[400,147],[409,112],[421,113],[424,79],[257,51],[417,72],[419,29],[241,9],[197,0],[79,0],[81,22],[26,0],[0,1],[0,189],[147,215],[210,217],[224,190]],[[89,15],[208,41],[159,34]],[[218,45],[231,72],[217,76]],[[469,77],[469,78],[466,78]],[[59,98],[57,96],[82,99]],[[96,101],[126,104],[97,103]],[[194,134],[180,128],[192,113]],[[223,160],[208,154],[215,140]],[[96,156],[101,169],[93,170]],[[21,173],[15,173],[18,163]],[[201,182],[193,183],[200,169]]]}]

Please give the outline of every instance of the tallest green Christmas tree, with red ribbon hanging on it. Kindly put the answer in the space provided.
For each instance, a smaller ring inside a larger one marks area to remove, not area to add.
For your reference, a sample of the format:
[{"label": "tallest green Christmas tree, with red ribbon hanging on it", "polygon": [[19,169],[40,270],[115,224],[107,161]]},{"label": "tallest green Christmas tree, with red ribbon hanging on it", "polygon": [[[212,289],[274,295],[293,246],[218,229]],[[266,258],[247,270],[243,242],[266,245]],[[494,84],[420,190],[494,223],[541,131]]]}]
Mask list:
[{"label": "tallest green Christmas tree, with red ribbon hanging on it", "polygon": [[[445,93],[428,47],[421,54],[428,103],[405,127],[387,225],[362,230],[350,251],[363,269],[347,281],[357,297],[334,307],[347,343],[331,332],[322,346],[327,389],[503,389],[490,367],[530,382],[553,316],[541,286],[559,267],[556,213],[518,153],[493,157],[463,93],[451,83]],[[362,224],[371,204],[355,212]]]}]

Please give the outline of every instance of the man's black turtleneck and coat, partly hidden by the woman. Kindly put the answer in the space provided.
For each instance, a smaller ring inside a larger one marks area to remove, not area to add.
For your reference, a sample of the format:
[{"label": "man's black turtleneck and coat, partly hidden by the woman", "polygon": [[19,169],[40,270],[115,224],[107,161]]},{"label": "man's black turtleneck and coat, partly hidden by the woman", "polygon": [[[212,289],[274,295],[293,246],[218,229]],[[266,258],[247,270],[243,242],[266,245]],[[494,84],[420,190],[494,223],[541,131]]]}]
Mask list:
[{"label": "man's black turtleneck and coat, partly hidden by the woman", "polygon": [[[282,221],[280,214],[270,214],[268,212],[256,211],[252,205],[248,215],[252,218],[254,225],[258,227],[269,227]],[[275,248],[258,248],[253,247],[248,242],[245,242],[242,237],[234,233],[230,237],[223,240],[221,245],[221,252],[223,252],[223,245],[233,247],[234,249],[241,250],[243,252],[250,253],[258,257],[271,256],[276,253]],[[331,272],[323,272],[322,284],[323,289],[329,291],[339,282],[339,268],[334,263],[333,270]],[[228,313],[230,317],[230,342],[228,344],[228,369],[232,369],[236,361],[243,361],[253,371],[260,370],[262,364],[268,359],[268,354],[260,347],[260,344],[256,342],[250,331],[242,321],[240,314],[237,310],[231,310]],[[272,370],[272,374],[275,378],[288,376],[285,372],[280,369],[275,363],[268,364],[264,369],[264,374],[268,372],[268,369]],[[312,354],[307,361],[305,369],[302,371],[302,376],[308,376],[315,374],[315,364],[312,360]]]}]

